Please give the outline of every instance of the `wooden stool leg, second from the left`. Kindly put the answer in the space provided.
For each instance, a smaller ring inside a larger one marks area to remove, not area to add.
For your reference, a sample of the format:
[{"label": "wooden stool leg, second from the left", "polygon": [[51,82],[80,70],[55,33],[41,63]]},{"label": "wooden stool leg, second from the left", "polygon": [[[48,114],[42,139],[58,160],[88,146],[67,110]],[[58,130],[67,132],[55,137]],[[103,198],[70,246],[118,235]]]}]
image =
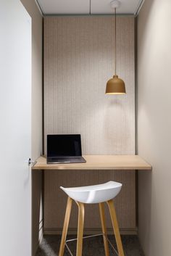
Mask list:
[{"label": "wooden stool leg, second from the left", "polygon": [[83,249],[83,226],[84,226],[84,204],[82,202],[76,202],[78,205],[78,241],[77,241],[77,254],[76,256],[82,256]]}]

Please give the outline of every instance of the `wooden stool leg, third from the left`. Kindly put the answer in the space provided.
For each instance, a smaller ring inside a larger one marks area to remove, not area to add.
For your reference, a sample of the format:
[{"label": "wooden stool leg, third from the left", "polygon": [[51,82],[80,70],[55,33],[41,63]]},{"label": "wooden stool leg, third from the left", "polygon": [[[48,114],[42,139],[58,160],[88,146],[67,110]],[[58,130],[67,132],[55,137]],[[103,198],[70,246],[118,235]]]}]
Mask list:
[{"label": "wooden stool leg, third from the left", "polygon": [[101,228],[103,232],[103,238],[104,238],[104,251],[105,255],[109,256],[109,246],[107,241],[107,226],[106,226],[106,220],[104,215],[104,203],[101,202],[99,204],[99,211],[100,211],[100,218],[101,218]]}]

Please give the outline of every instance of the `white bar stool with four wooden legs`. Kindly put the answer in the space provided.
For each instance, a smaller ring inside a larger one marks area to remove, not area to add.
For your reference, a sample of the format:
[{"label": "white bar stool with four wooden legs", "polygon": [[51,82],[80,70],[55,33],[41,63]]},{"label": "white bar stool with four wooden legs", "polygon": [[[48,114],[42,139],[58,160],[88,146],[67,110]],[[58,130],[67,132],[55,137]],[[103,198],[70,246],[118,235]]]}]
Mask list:
[{"label": "white bar stool with four wooden legs", "polygon": [[[120,239],[120,230],[117,223],[117,215],[114,208],[112,199],[117,196],[122,187],[121,183],[109,181],[104,184],[94,186],[80,186],[75,188],[60,187],[67,195],[67,208],[64,217],[64,226],[62,231],[62,239],[59,249],[59,256],[64,255],[64,245],[66,244],[67,228],[70,220],[70,212],[72,207],[72,200],[78,205],[78,239],[77,239],[77,255],[82,256],[83,247],[83,223],[84,223],[84,204],[97,204],[99,203],[99,211],[101,218],[102,235],[104,238],[105,255],[109,256],[109,247],[107,239],[107,228],[104,216],[104,202],[107,202],[109,212],[114,229],[114,236],[117,242],[117,250],[119,256],[124,256],[122,249],[122,241]],[[67,245],[67,244],[66,244]],[[68,248],[68,247],[67,247]],[[70,251],[70,249],[69,249]],[[71,254],[71,252],[70,252]]]}]

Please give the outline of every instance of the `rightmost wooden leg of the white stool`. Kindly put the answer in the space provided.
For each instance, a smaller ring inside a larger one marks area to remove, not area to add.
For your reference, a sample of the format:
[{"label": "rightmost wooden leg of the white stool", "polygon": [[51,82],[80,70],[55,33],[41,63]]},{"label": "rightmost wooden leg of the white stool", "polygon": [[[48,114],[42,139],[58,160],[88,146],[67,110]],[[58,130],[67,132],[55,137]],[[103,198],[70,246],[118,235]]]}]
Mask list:
[{"label": "rightmost wooden leg of the white stool", "polygon": [[116,211],[114,208],[114,203],[112,200],[107,201],[107,205],[109,207],[109,212],[110,212],[110,217],[112,220],[112,226],[114,229],[114,236],[117,242],[117,249],[118,249],[118,253],[119,256],[124,256],[124,252],[123,252],[123,248],[122,248],[122,241],[120,238],[120,229],[117,223],[117,215],[116,215]]}]

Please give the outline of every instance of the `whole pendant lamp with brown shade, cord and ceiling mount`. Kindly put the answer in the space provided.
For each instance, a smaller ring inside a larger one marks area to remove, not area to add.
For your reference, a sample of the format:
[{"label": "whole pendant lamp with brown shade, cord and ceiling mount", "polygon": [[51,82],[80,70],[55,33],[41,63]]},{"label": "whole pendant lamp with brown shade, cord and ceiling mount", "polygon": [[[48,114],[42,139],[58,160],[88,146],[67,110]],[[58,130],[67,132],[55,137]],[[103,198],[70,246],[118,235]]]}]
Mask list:
[{"label": "whole pendant lamp with brown shade, cord and ceiling mount", "polygon": [[114,9],[114,76],[107,81],[106,94],[126,94],[125,83],[117,75],[117,8],[120,7],[120,1],[111,1],[111,7]]}]

